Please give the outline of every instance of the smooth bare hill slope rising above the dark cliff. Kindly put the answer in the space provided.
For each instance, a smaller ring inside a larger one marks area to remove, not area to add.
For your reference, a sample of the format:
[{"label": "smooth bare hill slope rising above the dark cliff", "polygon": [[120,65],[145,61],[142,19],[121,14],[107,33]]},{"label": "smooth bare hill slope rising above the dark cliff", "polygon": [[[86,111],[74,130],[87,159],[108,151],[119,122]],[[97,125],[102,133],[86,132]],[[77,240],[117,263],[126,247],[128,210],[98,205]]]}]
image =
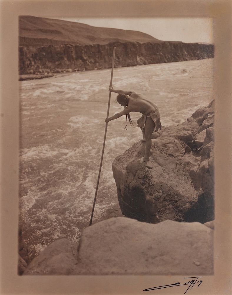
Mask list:
[{"label": "smooth bare hill slope rising above the dark cliff", "polygon": [[130,30],[92,27],[78,22],[34,16],[19,17],[19,46],[93,45],[111,42],[163,42]]}]

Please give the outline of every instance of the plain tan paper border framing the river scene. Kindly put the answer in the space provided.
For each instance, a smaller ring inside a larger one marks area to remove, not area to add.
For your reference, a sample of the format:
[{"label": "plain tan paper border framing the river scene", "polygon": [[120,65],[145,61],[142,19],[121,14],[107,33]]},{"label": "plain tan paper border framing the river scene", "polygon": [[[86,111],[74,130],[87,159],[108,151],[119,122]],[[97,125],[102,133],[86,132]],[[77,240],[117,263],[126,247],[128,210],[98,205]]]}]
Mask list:
[{"label": "plain tan paper border framing the river scene", "polygon": [[[1,1],[1,294],[142,294],[182,276],[18,276],[18,16],[212,17],[216,105],[214,275],[191,294],[231,283],[231,1]],[[178,289],[178,288],[176,288]],[[182,294],[173,288],[153,294]],[[228,293],[227,293],[228,292]]]}]

